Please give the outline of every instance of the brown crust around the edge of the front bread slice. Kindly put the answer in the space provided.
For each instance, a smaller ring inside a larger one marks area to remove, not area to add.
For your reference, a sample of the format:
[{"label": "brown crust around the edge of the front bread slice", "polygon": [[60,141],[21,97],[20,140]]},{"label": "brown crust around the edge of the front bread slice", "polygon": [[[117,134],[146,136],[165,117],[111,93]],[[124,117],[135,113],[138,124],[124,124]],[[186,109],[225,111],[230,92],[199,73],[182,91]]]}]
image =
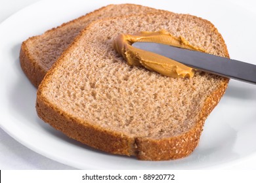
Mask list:
[{"label": "brown crust around the edge of the front bread slice", "polygon": [[[221,40],[225,56],[229,57],[223,37],[217,31],[215,26],[207,20],[203,20],[202,18],[200,19],[211,25],[212,29]],[[101,20],[99,20],[99,22],[100,21]],[[92,23],[91,26],[93,24],[95,23]],[[91,125],[87,122],[80,123],[79,120],[75,119],[74,116],[66,114],[62,111],[61,108],[58,108],[57,106],[54,106],[53,104],[49,103],[49,101],[47,101],[47,99],[42,94],[43,88],[45,88],[45,84],[50,82],[49,77],[53,75],[55,69],[58,69],[58,64],[61,63],[62,59],[65,59],[70,50],[75,48],[76,42],[80,37],[87,33],[87,29],[89,29],[89,27],[85,28],[81,34],[76,37],[75,41],[68,48],[68,50],[66,50],[64,54],[62,54],[62,56],[58,59],[58,61],[54,63],[54,66],[47,73],[43,82],[39,86],[36,105],[37,114],[39,117],[52,125],[54,128],[62,131],[62,133],[68,135],[68,137],[112,154],[136,156],[140,160],[154,161],[179,159],[191,154],[196,146],[198,146],[205,119],[207,116],[209,116],[210,112],[217,105],[217,103],[219,103],[219,100],[226,90],[229,81],[228,78],[223,78],[223,82],[220,84],[219,88],[213,91],[211,95],[205,99],[202,110],[199,114],[199,120],[196,122],[194,127],[180,136],[164,139],[129,137],[118,132],[109,131],[103,129],[102,127]]]}]

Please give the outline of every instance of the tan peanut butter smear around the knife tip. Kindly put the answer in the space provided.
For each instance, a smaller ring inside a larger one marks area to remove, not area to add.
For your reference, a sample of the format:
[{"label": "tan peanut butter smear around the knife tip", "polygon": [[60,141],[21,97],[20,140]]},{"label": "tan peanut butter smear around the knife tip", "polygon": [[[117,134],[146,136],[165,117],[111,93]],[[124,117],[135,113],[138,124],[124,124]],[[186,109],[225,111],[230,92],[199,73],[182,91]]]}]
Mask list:
[{"label": "tan peanut butter smear around the knife tip", "polygon": [[165,30],[142,31],[136,35],[120,34],[114,40],[114,49],[125,58],[128,65],[143,66],[150,71],[156,71],[161,75],[173,78],[192,78],[194,69],[173,59],[135,48],[131,46],[134,42],[157,42],[205,52],[201,48],[192,46],[183,37],[175,37]]}]

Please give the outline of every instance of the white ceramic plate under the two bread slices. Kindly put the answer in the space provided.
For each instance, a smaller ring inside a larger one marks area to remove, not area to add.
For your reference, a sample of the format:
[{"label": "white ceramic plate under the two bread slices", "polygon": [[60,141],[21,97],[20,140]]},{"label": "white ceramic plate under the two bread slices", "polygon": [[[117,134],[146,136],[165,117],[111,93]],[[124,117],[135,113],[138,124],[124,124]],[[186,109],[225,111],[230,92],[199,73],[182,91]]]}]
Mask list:
[{"label": "white ceramic plate under the two bread slices", "polygon": [[22,41],[110,3],[140,3],[206,18],[223,35],[231,58],[256,64],[256,15],[250,8],[229,1],[163,2],[40,1],[5,20],[0,25],[1,127],[35,152],[78,169],[208,169],[255,158],[256,86],[234,80],[207,119],[198,148],[188,158],[175,161],[106,154],[69,139],[37,117],[36,89],[18,59]]}]

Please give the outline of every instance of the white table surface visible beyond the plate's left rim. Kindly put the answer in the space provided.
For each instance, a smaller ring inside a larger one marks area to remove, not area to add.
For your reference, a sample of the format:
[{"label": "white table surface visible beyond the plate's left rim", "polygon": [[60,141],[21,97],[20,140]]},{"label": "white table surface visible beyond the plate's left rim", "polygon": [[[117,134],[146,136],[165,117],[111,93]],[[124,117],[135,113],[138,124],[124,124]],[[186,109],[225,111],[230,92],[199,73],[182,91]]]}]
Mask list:
[{"label": "white table surface visible beyond the plate's left rim", "polygon": [[[0,26],[12,14],[39,0],[0,0]],[[2,43],[0,43],[2,44]],[[18,51],[18,48],[17,50]],[[5,90],[1,86],[1,90]],[[2,113],[0,113],[2,116]],[[0,121],[3,118],[0,117]],[[33,152],[0,128],[0,169],[75,169]]]}]

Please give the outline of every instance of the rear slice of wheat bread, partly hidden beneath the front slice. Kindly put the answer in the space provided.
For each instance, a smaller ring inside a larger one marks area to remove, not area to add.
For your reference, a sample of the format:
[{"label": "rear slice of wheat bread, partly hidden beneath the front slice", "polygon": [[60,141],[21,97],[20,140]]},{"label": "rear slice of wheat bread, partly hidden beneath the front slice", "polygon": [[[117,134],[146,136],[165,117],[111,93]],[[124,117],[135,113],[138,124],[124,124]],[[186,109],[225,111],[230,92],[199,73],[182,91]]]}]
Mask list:
[{"label": "rear slice of wheat bread, partly hidden beneath the front slice", "polygon": [[20,49],[20,65],[22,70],[32,84],[38,87],[56,59],[89,23],[103,18],[160,11],[133,4],[108,5],[46,31],[42,35],[30,37],[22,42]]}]

